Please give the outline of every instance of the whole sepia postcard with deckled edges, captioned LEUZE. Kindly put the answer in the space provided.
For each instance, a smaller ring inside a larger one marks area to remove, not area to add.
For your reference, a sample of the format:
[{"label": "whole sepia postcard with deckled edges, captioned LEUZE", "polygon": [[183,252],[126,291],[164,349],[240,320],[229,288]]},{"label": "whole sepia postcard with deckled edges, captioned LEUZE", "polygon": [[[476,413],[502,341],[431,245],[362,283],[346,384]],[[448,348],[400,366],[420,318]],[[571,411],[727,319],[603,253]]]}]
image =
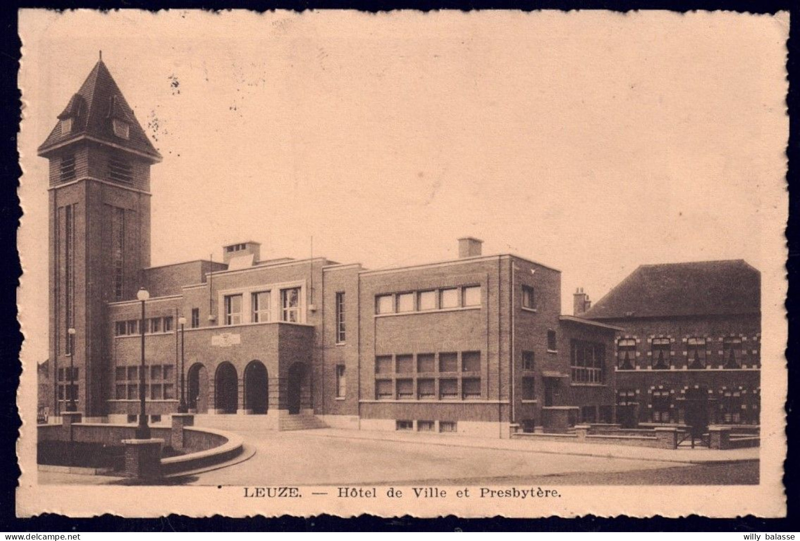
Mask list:
[{"label": "whole sepia postcard with deckled edges, captioned LEUZE", "polygon": [[19,28],[18,515],[786,513],[788,14]]}]

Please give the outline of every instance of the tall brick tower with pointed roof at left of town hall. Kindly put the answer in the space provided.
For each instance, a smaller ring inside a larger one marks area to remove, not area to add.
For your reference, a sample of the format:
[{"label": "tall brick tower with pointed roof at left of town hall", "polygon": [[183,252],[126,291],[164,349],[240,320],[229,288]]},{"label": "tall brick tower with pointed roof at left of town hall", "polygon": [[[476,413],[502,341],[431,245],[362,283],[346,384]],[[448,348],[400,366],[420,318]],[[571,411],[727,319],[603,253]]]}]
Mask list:
[{"label": "tall brick tower with pointed roof at left of town hall", "polygon": [[102,55],[38,155],[50,161],[52,414],[67,410],[71,375],[77,410],[98,418],[112,377],[106,305],[135,299],[150,266],[150,165],[162,158]]}]

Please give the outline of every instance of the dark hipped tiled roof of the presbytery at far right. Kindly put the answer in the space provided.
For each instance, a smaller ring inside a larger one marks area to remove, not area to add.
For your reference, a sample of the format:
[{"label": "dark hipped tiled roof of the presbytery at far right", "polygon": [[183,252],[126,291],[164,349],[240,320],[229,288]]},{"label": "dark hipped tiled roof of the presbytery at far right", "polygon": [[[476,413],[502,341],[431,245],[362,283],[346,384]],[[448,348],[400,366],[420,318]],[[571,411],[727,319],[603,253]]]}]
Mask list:
[{"label": "dark hipped tiled roof of the presbytery at far right", "polygon": [[642,265],[581,316],[587,319],[755,313],[761,272],[743,260]]}]

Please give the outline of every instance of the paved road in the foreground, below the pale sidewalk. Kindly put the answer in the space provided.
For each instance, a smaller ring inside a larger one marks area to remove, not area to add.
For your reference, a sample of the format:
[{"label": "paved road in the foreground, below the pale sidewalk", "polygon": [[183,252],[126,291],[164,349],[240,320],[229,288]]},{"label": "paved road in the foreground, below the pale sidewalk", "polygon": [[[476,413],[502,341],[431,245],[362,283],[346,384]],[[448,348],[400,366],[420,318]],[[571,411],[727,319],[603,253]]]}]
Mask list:
[{"label": "paved road in the foreground, below the pale sidewalk", "polygon": [[[201,485],[386,484],[646,484],[757,483],[758,463],[676,466],[675,463],[601,456],[553,455],[413,441],[350,439],[324,431],[241,432],[256,453],[244,463],[184,482]],[[446,441],[446,440],[444,440]]]}]

